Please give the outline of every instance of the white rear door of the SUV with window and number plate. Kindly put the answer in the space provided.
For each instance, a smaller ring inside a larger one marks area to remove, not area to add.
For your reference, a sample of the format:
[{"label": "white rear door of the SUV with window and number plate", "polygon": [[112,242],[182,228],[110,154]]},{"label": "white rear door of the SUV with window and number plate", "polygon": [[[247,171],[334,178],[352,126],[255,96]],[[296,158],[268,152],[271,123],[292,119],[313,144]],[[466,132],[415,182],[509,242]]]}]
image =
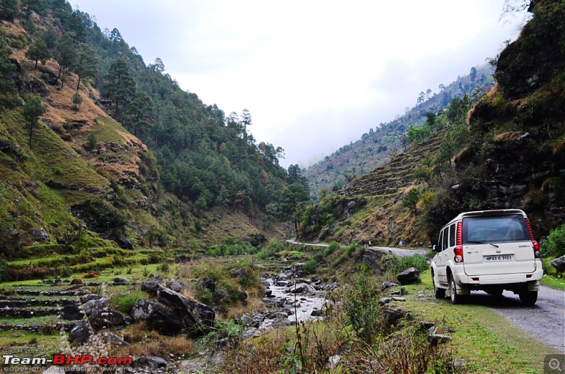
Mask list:
[{"label": "white rear door of the SUV with window and number plate", "polygon": [[534,272],[533,243],[523,215],[463,217],[463,265],[466,275]]}]

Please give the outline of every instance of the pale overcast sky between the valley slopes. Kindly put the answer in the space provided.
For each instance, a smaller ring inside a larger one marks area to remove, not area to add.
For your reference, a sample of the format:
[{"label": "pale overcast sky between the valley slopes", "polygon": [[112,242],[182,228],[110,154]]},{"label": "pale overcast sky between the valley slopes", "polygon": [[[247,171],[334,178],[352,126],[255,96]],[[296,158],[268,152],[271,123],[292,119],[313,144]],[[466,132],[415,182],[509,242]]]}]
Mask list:
[{"label": "pale overcast sky between the valley slopes", "polygon": [[504,0],[71,0],[307,167],[500,52]]}]

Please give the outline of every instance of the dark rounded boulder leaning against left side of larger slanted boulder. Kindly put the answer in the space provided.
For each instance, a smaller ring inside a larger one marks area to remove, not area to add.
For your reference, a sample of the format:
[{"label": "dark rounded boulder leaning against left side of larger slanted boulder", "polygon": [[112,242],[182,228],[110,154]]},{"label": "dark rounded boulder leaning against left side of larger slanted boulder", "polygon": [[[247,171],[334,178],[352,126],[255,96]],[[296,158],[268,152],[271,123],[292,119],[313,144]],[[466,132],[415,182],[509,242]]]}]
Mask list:
[{"label": "dark rounded boulder leaning against left side of larger slanted boulder", "polygon": [[130,312],[133,320],[143,321],[150,329],[160,332],[160,334],[174,335],[179,334],[184,327],[184,321],[179,316],[155,301],[146,298],[139,300],[131,308]]}]

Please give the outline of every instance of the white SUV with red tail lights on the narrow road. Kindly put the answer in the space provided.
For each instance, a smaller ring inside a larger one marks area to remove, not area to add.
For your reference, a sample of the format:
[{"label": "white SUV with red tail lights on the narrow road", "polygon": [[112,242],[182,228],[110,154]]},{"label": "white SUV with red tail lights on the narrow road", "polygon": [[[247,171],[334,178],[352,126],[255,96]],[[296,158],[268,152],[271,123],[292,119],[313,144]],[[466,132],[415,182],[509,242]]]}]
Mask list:
[{"label": "white SUV with red tail lights on the narrow road", "polygon": [[506,289],[525,305],[537,301],[543,276],[540,245],[522,210],[461,213],[441,229],[433,248],[436,298],[449,290],[456,304],[471,290],[501,295]]}]

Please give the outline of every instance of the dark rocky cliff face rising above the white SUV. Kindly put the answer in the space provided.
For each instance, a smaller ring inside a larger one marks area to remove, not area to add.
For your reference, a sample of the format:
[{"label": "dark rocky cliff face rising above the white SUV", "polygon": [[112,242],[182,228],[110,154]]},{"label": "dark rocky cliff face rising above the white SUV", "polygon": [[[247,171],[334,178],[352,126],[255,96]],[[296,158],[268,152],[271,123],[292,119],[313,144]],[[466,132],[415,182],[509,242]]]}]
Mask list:
[{"label": "dark rocky cliff face rising above the white SUV", "polygon": [[499,56],[498,84],[470,111],[460,171],[482,167],[494,208],[522,207],[545,235],[565,222],[565,4],[536,1],[533,18]]}]

